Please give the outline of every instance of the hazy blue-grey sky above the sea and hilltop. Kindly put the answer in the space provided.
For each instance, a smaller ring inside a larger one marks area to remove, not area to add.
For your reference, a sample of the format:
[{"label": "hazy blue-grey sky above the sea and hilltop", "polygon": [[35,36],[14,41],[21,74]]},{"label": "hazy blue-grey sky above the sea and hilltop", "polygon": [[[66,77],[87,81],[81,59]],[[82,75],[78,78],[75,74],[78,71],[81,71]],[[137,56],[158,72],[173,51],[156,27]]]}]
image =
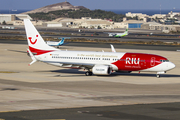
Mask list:
[{"label": "hazy blue-grey sky above the sea and hilltop", "polygon": [[[0,0],[0,9],[31,10],[65,0]],[[180,10],[180,0],[67,0],[74,6],[94,9],[173,9]]]}]

